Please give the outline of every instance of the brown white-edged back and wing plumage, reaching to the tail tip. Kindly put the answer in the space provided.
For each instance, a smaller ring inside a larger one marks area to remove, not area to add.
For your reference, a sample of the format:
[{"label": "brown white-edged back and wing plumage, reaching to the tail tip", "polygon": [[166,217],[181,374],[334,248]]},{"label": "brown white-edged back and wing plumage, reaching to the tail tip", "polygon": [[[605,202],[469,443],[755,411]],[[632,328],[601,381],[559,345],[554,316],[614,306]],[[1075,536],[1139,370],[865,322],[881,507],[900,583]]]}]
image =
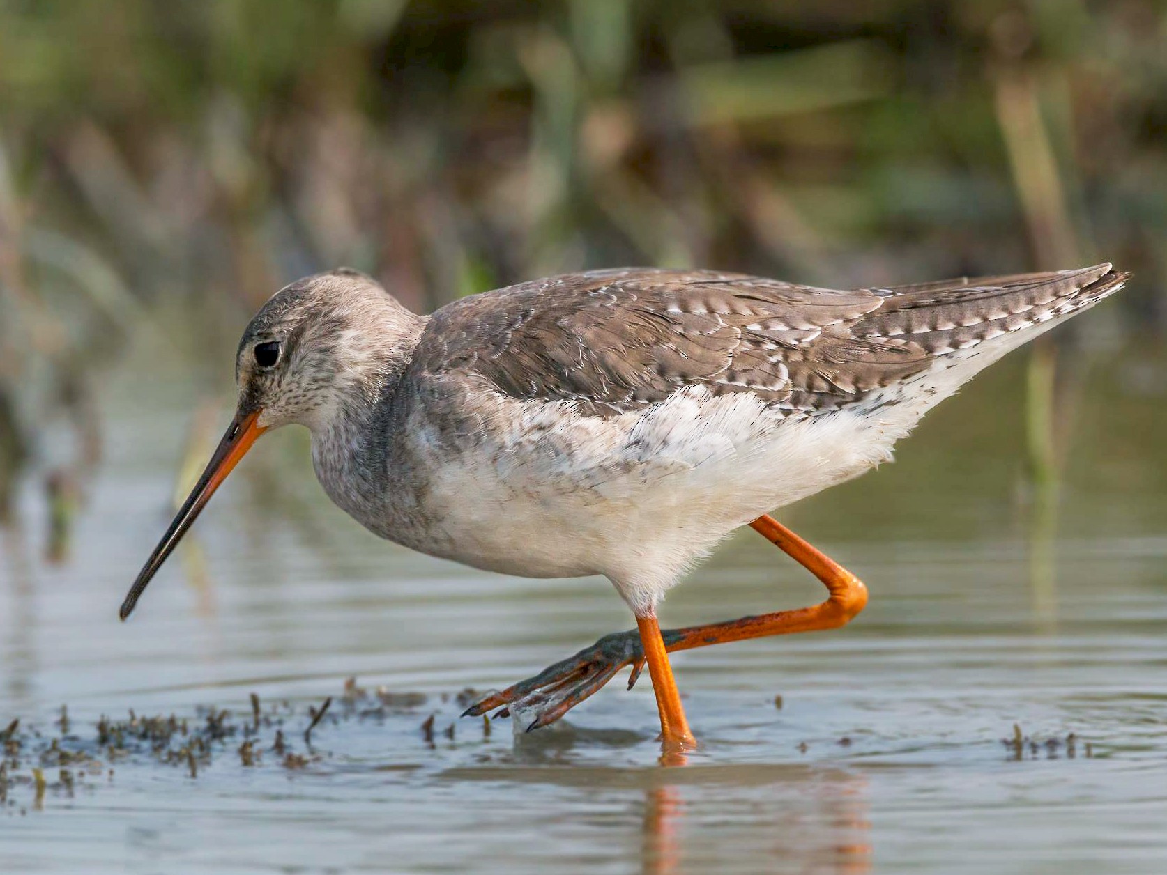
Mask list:
[{"label": "brown white-edged back and wing plumage, reaching to the tail tip", "polygon": [[1081,301],[1107,271],[855,292],[707,271],[566,274],[441,308],[411,368],[457,372],[517,398],[573,401],[593,415],[694,384],[831,410],[965,341],[1032,322],[1037,308]]}]

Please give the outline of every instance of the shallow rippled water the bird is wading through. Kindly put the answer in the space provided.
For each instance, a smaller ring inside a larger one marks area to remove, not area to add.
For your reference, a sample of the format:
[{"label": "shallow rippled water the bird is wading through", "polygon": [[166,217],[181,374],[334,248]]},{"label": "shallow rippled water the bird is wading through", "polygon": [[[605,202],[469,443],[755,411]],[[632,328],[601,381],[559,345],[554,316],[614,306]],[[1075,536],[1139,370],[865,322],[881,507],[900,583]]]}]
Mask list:
[{"label": "shallow rippled water the bird is wading through", "polygon": [[[48,737],[62,704],[82,738],[130,708],[245,719],[254,692],[288,700],[289,742],[308,752],[307,706],[350,676],[426,699],[361,718],[337,698],[299,769],[267,750],[244,766],[237,741],[197,777],[139,754],[71,794],[47,769],[37,806],[26,763],[0,814],[2,869],[1167,870],[1167,418],[1155,385],[1102,402],[1158,365],[1095,368],[1067,393],[1056,518],[1019,485],[1022,365],[946,402],[895,466],[782,514],[872,602],[840,631],[676,654],[701,741],[683,768],[658,764],[647,674],[551,730],[459,720],[462,688],[509,684],[630,617],[603,581],[509,579],[378,541],[323,498],[303,435],[265,439],[120,624],[195,401],[179,377],[127,366],[104,390],[107,461],[69,560],[42,558],[36,476],[21,526],[0,533],[0,728],[19,716]],[[747,531],[662,614],[820,596]],[[1020,758],[1002,742],[1015,723],[1035,744]]]}]

